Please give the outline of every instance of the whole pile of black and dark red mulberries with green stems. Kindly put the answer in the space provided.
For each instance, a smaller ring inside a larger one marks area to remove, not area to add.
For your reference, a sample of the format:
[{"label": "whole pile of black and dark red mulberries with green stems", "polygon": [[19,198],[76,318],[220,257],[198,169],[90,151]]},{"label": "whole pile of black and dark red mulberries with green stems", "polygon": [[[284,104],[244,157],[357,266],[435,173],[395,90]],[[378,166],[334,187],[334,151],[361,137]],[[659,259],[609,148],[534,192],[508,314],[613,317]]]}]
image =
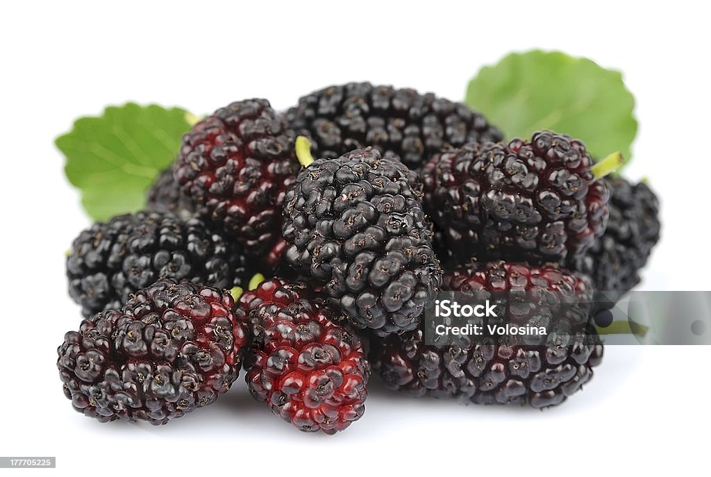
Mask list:
[{"label": "whole pile of black and dark red mulberries with green stems", "polygon": [[[561,404],[602,360],[592,317],[640,282],[658,199],[603,177],[582,140],[503,139],[464,104],[370,83],[284,114],[218,109],[146,210],[70,247],[85,319],[58,348],[65,395],[100,422],[165,424],[244,369],[256,400],[326,434],[363,416],[371,370],[416,397]],[[445,298],[496,304],[477,323],[551,332],[438,341]]]}]

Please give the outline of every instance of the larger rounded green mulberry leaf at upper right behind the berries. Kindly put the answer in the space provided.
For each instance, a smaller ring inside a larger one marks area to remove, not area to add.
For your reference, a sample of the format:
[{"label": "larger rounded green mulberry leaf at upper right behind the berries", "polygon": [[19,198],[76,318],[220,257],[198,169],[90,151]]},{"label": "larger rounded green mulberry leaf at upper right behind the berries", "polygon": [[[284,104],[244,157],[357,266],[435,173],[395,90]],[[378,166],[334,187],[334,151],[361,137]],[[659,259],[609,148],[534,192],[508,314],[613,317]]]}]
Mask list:
[{"label": "larger rounded green mulberry leaf at upper right behind the berries", "polygon": [[587,58],[540,50],[512,53],[481,68],[469,82],[466,104],[510,138],[550,129],[582,139],[597,159],[614,151],[631,158],[637,133],[634,96],[619,71]]}]

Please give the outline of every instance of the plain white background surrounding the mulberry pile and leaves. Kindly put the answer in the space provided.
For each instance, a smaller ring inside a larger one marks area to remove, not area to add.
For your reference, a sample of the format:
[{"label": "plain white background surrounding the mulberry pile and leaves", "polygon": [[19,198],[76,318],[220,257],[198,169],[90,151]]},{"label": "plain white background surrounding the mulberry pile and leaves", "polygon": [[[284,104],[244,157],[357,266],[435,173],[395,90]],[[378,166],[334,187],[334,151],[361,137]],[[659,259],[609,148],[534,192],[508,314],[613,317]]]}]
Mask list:
[{"label": "plain white background surrounding the mulberry pile and leaves", "polygon": [[0,455],[58,456],[58,472],[96,476],[707,471],[711,376],[701,346],[609,347],[584,392],[545,412],[412,400],[373,380],[365,416],[337,436],[297,432],[241,379],[213,406],[159,428],[73,411],[55,349],[80,321],[64,252],[90,221],[53,139],[75,117],[127,100],[200,114],[267,97],[282,109],[351,80],[461,100],[479,66],[511,50],[585,55],[624,71],[640,121],[628,174],[648,177],[663,201],[663,240],[643,287],[710,289],[710,42],[695,4],[250,3],[1,7]]}]

